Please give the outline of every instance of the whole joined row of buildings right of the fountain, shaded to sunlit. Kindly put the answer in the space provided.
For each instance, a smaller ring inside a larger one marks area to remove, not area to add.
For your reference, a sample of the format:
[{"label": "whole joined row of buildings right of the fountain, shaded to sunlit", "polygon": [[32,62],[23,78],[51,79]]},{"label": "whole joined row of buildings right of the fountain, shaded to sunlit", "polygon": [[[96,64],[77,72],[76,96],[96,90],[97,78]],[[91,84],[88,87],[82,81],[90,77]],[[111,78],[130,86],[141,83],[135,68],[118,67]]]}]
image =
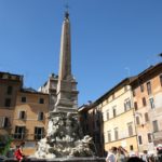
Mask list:
[{"label": "whole joined row of buildings right of the fountain, shaded to sunlit", "polygon": [[[79,111],[83,131],[93,137],[97,135],[96,121],[100,122],[98,144],[103,143],[105,151],[122,146],[127,152],[154,153],[156,147],[162,144],[162,64],[124,79]],[[102,114],[102,120],[97,120],[96,112]]]}]

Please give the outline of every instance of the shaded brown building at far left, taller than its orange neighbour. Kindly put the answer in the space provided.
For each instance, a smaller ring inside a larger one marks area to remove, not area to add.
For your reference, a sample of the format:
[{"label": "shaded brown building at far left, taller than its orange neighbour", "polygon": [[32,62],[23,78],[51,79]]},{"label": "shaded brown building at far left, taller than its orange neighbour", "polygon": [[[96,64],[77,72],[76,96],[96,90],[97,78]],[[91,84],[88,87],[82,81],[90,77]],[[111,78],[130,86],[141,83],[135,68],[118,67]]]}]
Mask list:
[{"label": "shaded brown building at far left, taller than its orange neighbour", "polygon": [[17,92],[23,86],[23,76],[0,72],[0,134],[11,134]]}]

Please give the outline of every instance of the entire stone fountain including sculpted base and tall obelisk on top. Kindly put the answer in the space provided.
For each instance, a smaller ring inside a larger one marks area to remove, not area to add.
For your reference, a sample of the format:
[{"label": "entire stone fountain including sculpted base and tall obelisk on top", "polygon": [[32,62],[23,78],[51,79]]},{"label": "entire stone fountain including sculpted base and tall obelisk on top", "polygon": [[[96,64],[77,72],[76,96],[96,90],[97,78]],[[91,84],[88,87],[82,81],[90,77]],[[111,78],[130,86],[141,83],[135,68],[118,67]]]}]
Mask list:
[{"label": "entire stone fountain including sculpted base and tall obelisk on top", "polygon": [[60,40],[59,73],[56,102],[49,113],[49,127],[38,143],[36,159],[31,161],[104,161],[95,157],[92,137],[83,136],[78,117],[77,82],[71,75],[70,21],[65,13]]}]

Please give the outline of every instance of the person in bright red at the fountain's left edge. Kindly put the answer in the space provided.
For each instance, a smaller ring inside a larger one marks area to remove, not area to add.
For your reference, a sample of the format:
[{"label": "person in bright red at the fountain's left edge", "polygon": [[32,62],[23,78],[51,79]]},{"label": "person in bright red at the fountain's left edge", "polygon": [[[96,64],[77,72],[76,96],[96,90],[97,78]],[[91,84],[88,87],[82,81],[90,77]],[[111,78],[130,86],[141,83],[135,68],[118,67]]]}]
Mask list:
[{"label": "person in bright red at the fountain's left edge", "polygon": [[14,157],[18,160],[18,162],[22,162],[25,156],[23,154],[23,147],[25,146],[25,143],[21,143],[19,146],[16,147],[16,150],[14,152]]}]

